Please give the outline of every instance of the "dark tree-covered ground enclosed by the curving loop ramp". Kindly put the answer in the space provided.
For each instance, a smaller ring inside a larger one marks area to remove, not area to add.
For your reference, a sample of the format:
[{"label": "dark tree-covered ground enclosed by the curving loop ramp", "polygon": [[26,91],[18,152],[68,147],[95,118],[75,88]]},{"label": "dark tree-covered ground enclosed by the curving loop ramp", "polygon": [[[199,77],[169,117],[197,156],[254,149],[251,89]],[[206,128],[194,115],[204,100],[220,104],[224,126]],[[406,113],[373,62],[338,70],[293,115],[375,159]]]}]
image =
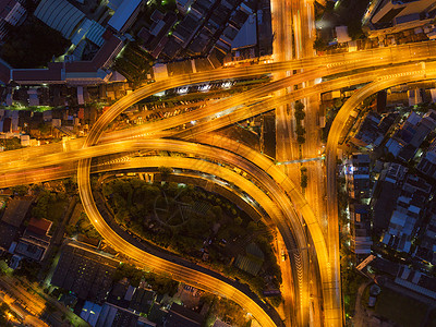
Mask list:
[{"label": "dark tree-covered ground enclosed by the curving loop ramp", "polygon": [[[170,182],[158,186],[140,179],[105,183],[102,194],[117,222],[142,239],[194,262],[207,262],[227,276],[245,281],[259,295],[267,283],[279,288],[281,271],[271,249],[272,235],[265,225],[251,220],[228,199],[193,185]],[[257,276],[231,264],[251,242],[265,255]],[[279,304],[281,296],[270,299],[274,301]]]}]

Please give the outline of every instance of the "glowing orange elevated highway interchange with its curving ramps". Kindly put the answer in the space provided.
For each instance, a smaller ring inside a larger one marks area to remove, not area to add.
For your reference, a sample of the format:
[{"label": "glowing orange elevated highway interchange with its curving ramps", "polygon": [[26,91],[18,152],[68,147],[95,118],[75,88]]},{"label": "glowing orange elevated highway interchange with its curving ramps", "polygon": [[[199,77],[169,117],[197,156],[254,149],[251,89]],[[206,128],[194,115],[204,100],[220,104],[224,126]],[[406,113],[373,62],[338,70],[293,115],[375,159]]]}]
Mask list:
[{"label": "glowing orange elevated highway interchange with its curving ramps", "polygon": [[[302,216],[313,240],[319,265],[325,325],[340,326],[342,324],[342,312],[339,279],[340,267],[338,266],[339,241],[337,229],[335,231],[335,228],[331,228],[338,227],[337,207],[335,205],[335,162],[337,146],[337,138],[335,137],[339,137],[338,133],[340,133],[340,126],[343,121],[347,120],[347,114],[352,111],[355,105],[360,104],[360,101],[374,92],[408,81],[434,78],[435,65],[429,62],[426,64],[420,63],[421,61],[434,58],[434,55],[432,55],[435,53],[434,48],[435,46],[433,43],[423,43],[411,46],[383,48],[330,57],[291,60],[282,63],[221,69],[213,72],[171,77],[168,81],[153,83],[114,104],[100,117],[86,140],[78,138],[63,144],[60,143],[2,154],[2,156],[0,156],[0,162],[2,167],[4,167],[4,171],[0,177],[0,185],[1,187],[5,187],[13,184],[35,182],[38,180],[38,175],[39,180],[59,178],[60,175],[70,175],[72,172],[71,168],[74,168],[74,165],[71,166],[71,164],[77,162],[78,160],[77,182],[86,213],[88,217],[90,217],[96,229],[109,241],[109,243],[113,245],[116,250],[131,254],[133,258],[146,264],[147,266],[155,266],[161,271],[171,272],[177,277],[177,279],[194,280],[201,288],[206,290],[219,289],[222,295],[233,299],[237,303],[240,303],[251,312],[262,326],[275,326],[278,325],[278,323],[274,322],[274,319],[265,313],[264,308],[259,306],[258,303],[252,301],[246,296],[246,294],[234,287],[199,271],[192,271],[187,268],[186,270],[179,265],[159,258],[152,259],[146,253],[125,242],[114,233],[107,223],[105,223],[95,206],[90,192],[90,158],[94,156],[159,147],[185,154],[194,154],[198,158],[214,158],[214,160],[226,161],[232,167],[239,167],[250,173],[251,177],[256,179],[256,183],[247,180],[242,182],[244,179],[234,172],[231,173],[231,169],[219,168],[220,166],[204,160],[192,158],[179,158],[178,160],[174,160],[173,158],[171,159],[166,157],[149,158],[149,165],[154,167],[162,165],[185,169],[189,167],[195,167],[195,170],[207,171],[208,173],[216,174],[229,182],[235,182],[235,184],[238,184],[242,190],[246,190],[246,193],[252,198],[255,198],[278,225],[289,251],[294,247],[295,243],[293,243],[293,241],[296,241],[296,245],[300,249],[307,247],[307,237],[305,235],[303,225],[299,219],[299,215]],[[375,65],[374,61],[376,61],[377,65],[380,68],[372,69],[368,72],[354,72],[356,69],[373,68]],[[416,61],[417,63],[403,64],[400,70],[401,73],[399,73],[398,68],[382,66],[388,63],[404,63],[408,61]],[[256,76],[281,70],[302,68],[305,69],[304,73],[277,80],[266,86],[232,96],[206,108],[150,124],[117,131],[112,134],[104,134],[105,128],[119,113],[138,100],[160,90],[192,83],[238,78],[242,76]],[[350,74],[343,75],[346,72],[350,72]],[[320,84],[298,89],[296,92],[280,95],[278,97],[267,97],[262,100],[262,102],[250,106],[250,102],[253,101],[253,98],[255,97],[264,97],[275,90],[286,88],[289,85],[295,85],[304,81],[312,81],[316,77],[339,73],[342,75],[337,78],[327,80]],[[327,90],[338,89],[344,86],[360,85],[372,81],[375,82],[358,90],[342,107],[334,122],[331,129],[332,132],[327,142],[327,195],[329,196],[329,201],[327,202],[327,216],[329,219],[329,232],[327,238],[325,227],[312,210],[312,207],[305,199],[304,195],[301,194],[300,189],[295,186],[292,179],[278,169],[271,160],[253,149],[244,147],[243,145],[234,144],[234,141],[219,140],[217,142],[217,140],[214,141],[213,136],[205,137],[202,134],[271,110],[279,105],[289,104],[296,99],[307,97],[312,94],[316,95]],[[233,108],[231,113],[216,118],[217,114],[229,108]],[[206,121],[184,131],[175,129],[183,123],[201,119],[205,119]],[[202,136],[198,136],[201,134]],[[141,136],[141,138],[137,136]],[[191,140],[194,142],[156,138],[164,136]],[[131,137],[136,137],[137,140],[120,142],[120,140],[128,140]],[[147,140],[147,137],[149,140]],[[98,145],[100,140],[101,145]],[[113,140],[116,140],[116,142]],[[198,143],[203,144],[201,145]],[[195,160],[195,162],[193,160]],[[146,161],[146,159],[143,161]],[[146,162],[143,162],[143,165],[146,165]],[[214,168],[211,168],[210,165],[214,165]],[[34,177],[33,173],[35,173]],[[257,184],[259,187],[253,186]],[[268,194],[268,196],[266,194]],[[299,306],[296,311],[306,313],[310,301],[308,287],[304,279],[308,277],[307,271],[310,267],[307,252],[301,251],[300,253],[303,256],[302,263],[305,272],[301,278],[299,278],[299,276],[296,276],[296,279],[294,278],[294,286],[291,289],[294,289],[294,291],[298,292],[295,299],[300,299],[300,301],[296,301],[296,303],[300,302],[300,305],[295,304],[295,306]],[[298,324],[302,326],[307,325],[308,323],[304,320],[306,319],[305,317],[307,314],[302,314],[301,316],[301,319],[296,319]]]}]

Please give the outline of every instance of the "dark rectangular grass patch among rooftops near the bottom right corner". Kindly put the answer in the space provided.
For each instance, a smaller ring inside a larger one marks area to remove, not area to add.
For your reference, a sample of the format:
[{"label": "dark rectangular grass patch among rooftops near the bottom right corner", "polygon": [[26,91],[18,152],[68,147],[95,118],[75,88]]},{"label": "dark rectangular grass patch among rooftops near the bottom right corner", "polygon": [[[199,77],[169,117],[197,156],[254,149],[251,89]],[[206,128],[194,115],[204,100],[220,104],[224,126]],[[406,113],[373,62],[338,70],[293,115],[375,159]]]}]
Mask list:
[{"label": "dark rectangular grass patch among rooftops near the bottom right corner", "polygon": [[414,299],[384,288],[377,296],[375,311],[400,326],[421,326],[427,306]]}]

